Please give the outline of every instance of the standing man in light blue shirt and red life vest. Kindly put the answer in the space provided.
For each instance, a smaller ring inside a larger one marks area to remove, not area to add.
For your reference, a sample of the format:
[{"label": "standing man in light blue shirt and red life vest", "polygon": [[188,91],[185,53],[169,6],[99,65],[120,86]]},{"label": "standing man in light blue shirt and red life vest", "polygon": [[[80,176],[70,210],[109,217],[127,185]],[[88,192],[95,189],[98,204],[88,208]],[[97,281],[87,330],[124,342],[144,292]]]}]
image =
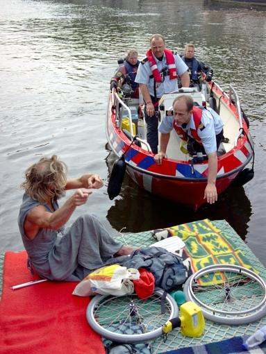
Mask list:
[{"label": "standing man in light blue shirt and red life vest", "polygon": [[158,152],[158,101],[169,92],[178,91],[178,76],[183,87],[189,87],[188,67],[177,53],[165,48],[163,35],[150,37],[150,49],[138,67],[135,81],[140,84],[147,123],[147,142]]}]

